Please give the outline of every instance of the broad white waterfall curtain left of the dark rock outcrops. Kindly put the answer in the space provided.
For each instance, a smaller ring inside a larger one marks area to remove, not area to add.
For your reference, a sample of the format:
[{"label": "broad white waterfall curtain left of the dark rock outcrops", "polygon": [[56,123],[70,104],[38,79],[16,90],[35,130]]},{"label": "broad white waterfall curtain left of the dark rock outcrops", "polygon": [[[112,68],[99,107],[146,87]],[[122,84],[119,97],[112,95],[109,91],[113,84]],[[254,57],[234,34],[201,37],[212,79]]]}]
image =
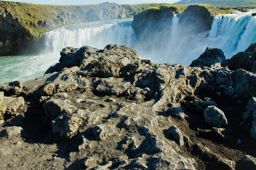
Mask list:
[{"label": "broad white waterfall curtain left of the dark rock outcrops", "polygon": [[88,45],[99,49],[108,44],[134,46],[136,39],[131,22],[131,19],[126,19],[68,25],[47,32],[45,45],[51,52],[59,52],[67,46],[80,48]]}]

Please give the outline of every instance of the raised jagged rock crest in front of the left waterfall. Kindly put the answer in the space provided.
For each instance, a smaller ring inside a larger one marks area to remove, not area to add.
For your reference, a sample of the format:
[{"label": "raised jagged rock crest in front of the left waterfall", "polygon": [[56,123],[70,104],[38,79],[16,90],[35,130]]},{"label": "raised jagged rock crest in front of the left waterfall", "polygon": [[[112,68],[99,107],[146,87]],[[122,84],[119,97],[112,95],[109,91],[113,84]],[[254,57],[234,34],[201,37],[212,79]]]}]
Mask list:
[{"label": "raised jagged rock crest in front of the left waterfall", "polygon": [[77,72],[79,75],[107,78],[130,75],[141,67],[137,52],[123,45],[110,44],[103,50],[82,46],[80,49],[73,49],[75,53],[70,53],[70,50],[72,49],[68,49],[67,53],[63,49],[60,63],[46,73],[60,71],[64,67],[78,66],[82,68]]}]

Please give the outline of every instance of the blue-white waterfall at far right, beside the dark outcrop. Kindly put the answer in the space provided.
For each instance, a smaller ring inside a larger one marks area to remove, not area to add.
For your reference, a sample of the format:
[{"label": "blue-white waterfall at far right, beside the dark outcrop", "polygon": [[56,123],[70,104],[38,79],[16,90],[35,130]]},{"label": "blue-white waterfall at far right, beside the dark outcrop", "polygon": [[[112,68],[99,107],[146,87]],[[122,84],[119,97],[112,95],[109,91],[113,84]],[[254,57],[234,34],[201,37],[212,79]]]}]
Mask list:
[{"label": "blue-white waterfall at far right, beside the dark outcrop", "polygon": [[217,15],[207,37],[207,45],[220,48],[227,58],[256,42],[256,17],[251,12]]}]

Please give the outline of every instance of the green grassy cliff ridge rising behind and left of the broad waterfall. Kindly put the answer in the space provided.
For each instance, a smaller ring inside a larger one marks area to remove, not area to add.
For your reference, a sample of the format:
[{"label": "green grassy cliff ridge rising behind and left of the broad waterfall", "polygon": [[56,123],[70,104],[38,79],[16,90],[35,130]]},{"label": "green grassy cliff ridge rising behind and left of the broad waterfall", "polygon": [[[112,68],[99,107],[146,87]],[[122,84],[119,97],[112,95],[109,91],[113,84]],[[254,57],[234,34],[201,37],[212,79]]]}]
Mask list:
[{"label": "green grassy cliff ridge rising behind and left of the broad waterfall", "polygon": [[[42,45],[44,34],[63,25],[95,20],[132,18],[161,4],[56,6],[0,1],[0,56],[30,52]],[[34,48],[33,47],[33,48]],[[34,49],[35,49],[34,48]]]}]

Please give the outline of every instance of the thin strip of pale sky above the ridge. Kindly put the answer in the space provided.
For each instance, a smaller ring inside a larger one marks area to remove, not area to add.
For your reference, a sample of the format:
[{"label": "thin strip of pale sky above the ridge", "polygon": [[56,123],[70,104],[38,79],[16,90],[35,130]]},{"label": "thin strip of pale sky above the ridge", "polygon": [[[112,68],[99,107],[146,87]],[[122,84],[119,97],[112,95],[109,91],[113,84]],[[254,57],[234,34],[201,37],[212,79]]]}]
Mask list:
[{"label": "thin strip of pale sky above the ridge", "polygon": [[[6,0],[5,0],[6,1]],[[103,2],[115,2],[119,5],[123,4],[139,4],[139,3],[175,3],[180,0],[24,0],[24,1],[14,1],[14,2],[27,2],[34,4],[43,4],[43,5],[93,5]]]}]

